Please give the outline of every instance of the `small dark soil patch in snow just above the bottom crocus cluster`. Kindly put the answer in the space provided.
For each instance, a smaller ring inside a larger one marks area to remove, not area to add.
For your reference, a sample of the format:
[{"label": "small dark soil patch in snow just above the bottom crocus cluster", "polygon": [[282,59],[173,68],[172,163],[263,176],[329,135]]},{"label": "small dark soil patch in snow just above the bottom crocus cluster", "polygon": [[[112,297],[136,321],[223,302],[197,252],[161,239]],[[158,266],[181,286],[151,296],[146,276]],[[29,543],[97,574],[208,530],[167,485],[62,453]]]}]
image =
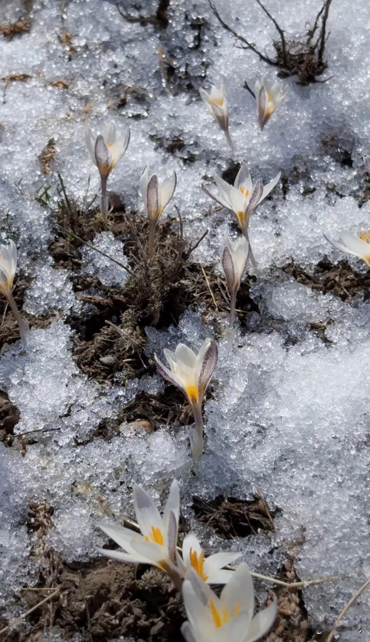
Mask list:
[{"label": "small dark soil patch in snow just above the bottom crocus cluster", "polygon": [[271,512],[261,496],[246,500],[219,495],[205,501],[194,495],[192,508],[196,519],[212,526],[217,535],[224,539],[248,537],[260,530],[275,530],[273,517],[278,512]]}]

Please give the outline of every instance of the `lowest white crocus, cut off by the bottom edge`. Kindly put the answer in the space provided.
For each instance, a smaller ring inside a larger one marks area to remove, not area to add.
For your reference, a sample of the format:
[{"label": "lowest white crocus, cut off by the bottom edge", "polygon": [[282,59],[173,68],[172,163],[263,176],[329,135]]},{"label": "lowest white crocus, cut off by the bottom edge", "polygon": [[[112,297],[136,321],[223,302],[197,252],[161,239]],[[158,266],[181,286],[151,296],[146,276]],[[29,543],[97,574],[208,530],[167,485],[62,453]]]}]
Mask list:
[{"label": "lowest white crocus, cut off by the bottom edge", "polygon": [[276,618],[276,600],[253,616],[253,580],[246,564],[238,566],[219,597],[193,569],[182,591],[188,621],[181,633],[187,642],[254,642]]}]

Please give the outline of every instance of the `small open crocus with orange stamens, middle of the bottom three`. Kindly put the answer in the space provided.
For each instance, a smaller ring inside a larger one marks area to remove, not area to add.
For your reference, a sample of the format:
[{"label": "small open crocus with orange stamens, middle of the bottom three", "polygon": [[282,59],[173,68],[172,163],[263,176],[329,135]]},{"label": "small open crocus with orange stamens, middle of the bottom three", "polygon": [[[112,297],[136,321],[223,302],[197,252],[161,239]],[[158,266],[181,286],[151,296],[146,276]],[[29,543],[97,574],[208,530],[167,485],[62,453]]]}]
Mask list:
[{"label": "small open crocus with orange stamens, middle of the bottom three", "polygon": [[181,575],[186,577],[187,571],[192,568],[207,584],[227,584],[234,571],[228,571],[223,567],[232,564],[240,555],[241,553],[224,551],[205,557],[205,551],[192,533],[188,533],[184,537],[182,557],[176,550],[177,564]]}]

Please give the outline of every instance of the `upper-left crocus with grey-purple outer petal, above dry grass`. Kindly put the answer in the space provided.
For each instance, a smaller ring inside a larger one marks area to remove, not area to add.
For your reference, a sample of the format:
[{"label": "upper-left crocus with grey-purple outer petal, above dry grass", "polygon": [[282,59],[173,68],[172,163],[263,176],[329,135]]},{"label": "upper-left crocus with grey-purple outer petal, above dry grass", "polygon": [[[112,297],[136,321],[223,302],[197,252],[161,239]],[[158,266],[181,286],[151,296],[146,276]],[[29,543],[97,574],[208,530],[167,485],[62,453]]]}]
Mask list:
[{"label": "upper-left crocus with grey-purple outer petal, above dry grass", "polygon": [[126,152],[130,142],[130,130],[126,128],[124,134],[117,135],[114,123],[110,123],[103,127],[101,134],[97,135],[88,125],[85,139],[92,162],[99,169],[101,178],[101,213],[106,214],[108,210],[106,182],[110,172]]}]

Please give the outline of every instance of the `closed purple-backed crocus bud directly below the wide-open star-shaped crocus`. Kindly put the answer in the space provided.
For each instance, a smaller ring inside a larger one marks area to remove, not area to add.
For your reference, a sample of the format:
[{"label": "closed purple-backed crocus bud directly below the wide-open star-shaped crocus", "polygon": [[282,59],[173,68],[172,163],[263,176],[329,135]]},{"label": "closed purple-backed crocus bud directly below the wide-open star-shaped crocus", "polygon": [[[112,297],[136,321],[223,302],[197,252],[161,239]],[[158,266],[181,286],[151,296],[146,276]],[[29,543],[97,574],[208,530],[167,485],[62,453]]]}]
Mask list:
[{"label": "closed purple-backed crocus bud directly below the wide-open star-shaped crocus", "polygon": [[229,327],[232,328],[235,322],[235,305],[237,291],[240,288],[240,281],[246,265],[249,261],[249,243],[245,236],[231,243],[230,238],[224,242],[221,254],[221,265],[230,292],[230,320]]}]

